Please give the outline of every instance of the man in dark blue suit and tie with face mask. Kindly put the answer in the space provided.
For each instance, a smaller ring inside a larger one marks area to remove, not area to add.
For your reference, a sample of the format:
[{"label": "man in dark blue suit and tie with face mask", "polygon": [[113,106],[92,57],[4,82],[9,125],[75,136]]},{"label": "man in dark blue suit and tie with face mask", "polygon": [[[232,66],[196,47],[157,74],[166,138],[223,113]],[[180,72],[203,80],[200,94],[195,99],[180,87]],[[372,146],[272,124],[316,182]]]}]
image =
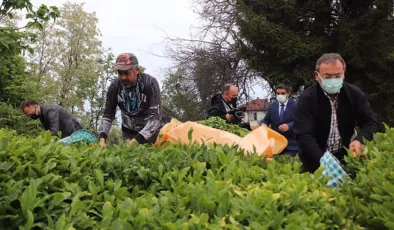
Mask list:
[{"label": "man in dark blue suit and tie with face mask", "polygon": [[288,144],[282,153],[294,157],[298,152],[298,146],[293,132],[293,111],[297,102],[289,98],[289,96],[290,88],[288,86],[281,84],[276,87],[277,101],[269,105],[268,111],[261,121],[261,125],[271,125],[271,129],[285,136]]}]

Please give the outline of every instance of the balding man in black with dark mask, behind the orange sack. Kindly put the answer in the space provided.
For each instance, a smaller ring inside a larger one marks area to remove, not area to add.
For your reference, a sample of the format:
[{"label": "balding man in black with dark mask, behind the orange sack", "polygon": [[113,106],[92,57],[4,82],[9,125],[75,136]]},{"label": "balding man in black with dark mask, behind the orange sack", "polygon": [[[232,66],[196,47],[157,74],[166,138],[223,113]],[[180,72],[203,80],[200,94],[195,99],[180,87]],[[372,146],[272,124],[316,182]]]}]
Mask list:
[{"label": "balding man in black with dark mask, behind the orange sack", "polygon": [[235,114],[231,114],[237,108],[238,88],[233,84],[224,85],[222,92],[211,99],[211,107],[208,109],[208,117],[220,117],[228,123],[237,124],[250,130],[250,124],[243,122]]}]

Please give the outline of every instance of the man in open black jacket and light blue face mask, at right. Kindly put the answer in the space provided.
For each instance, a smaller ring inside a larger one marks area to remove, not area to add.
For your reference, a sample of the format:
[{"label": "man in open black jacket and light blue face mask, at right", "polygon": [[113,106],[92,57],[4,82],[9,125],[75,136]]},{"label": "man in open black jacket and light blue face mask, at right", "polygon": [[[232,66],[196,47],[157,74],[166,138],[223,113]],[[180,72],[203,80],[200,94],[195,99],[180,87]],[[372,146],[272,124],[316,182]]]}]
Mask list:
[{"label": "man in open black jacket and light blue face mask, at right", "polygon": [[[326,151],[342,162],[346,148],[361,154],[363,140],[371,140],[378,131],[377,116],[364,93],[343,82],[345,71],[346,63],[339,54],[324,54],[316,62],[316,83],[298,99],[294,133],[307,171],[319,168]],[[360,132],[352,140],[356,125]]]}]

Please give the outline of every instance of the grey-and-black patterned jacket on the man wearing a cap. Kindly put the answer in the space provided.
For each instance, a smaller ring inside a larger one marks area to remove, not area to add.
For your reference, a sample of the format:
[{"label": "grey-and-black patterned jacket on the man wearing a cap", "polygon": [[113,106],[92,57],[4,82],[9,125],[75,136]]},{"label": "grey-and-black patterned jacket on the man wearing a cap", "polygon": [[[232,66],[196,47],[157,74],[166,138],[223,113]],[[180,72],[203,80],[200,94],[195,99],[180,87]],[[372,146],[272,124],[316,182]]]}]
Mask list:
[{"label": "grey-and-black patterned jacket on the man wearing a cap", "polygon": [[140,73],[137,85],[125,88],[119,78],[110,85],[100,124],[100,138],[107,138],[115,119],[116,107],[122,114],[123,133],[132,134],[139,143],[153,143],[161,128],[161,97],[156,78]]}]

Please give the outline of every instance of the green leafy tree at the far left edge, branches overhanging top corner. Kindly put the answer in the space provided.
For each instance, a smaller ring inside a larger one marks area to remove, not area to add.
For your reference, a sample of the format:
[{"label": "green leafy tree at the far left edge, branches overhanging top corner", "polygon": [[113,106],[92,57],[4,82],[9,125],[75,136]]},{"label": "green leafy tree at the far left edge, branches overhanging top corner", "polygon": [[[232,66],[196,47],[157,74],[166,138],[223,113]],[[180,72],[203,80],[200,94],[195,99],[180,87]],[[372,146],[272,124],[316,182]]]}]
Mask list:
[{"label": "green leafy tree at the far left edge, branches overhanging top corner", "polygon": [[29,43],[35,38],[34,34],[17,28],[17,19],[21,18],[18,12],[22,9],[27,11],[28,19],[23,28],[42,28],[45,21],[59,16],[57,7],[41,5],[34,10],[28,0],[4,0],[0,4],[0,102],[12,105],[18,104],[28,92],[26,63],[20,54],[26,49],[32,51]]}]

